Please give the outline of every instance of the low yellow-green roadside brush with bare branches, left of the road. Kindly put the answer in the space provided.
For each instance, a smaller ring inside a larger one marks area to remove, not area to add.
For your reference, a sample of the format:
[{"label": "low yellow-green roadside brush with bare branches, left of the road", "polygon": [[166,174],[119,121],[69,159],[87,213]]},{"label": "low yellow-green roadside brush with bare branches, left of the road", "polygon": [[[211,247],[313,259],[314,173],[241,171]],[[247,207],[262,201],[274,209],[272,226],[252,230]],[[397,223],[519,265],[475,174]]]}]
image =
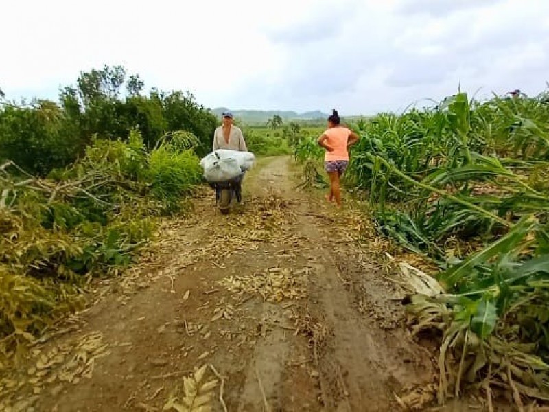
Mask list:
[{"label": "low yellow-green roadside brush with bare branches, left of the road", "polygon": [[[0,354],[32,341],[58,314],[82,304],[92,276],[116,275],[201,181],[188,133],[151,152],[141,133],[94,138],[82,159],[27,179],[0,169]],[[0,359],[1,362],[1,359]]]}]

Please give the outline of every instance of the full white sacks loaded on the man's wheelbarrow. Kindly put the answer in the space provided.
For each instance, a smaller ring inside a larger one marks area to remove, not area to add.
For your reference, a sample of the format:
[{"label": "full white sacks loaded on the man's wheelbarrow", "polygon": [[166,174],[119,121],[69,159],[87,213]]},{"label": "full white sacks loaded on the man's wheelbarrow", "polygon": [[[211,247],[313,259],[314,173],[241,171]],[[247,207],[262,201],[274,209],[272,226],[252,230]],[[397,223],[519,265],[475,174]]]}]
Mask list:
[{"label": "full white sacks loaded on the man's wheelbarrow", "polygon": [[255,163],[255,155],[250,152],[218,149],[202,158],[204,177],[208,182],[230,181],[244,174]]}]

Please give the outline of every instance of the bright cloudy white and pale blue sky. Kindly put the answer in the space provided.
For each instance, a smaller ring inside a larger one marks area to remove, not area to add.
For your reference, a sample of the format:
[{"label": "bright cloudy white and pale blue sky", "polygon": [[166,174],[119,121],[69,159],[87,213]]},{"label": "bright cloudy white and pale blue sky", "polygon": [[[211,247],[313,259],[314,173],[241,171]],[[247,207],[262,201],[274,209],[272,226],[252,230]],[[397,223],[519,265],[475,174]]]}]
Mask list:
[{"label": "bright cloudy white and pale blue sky", "polygon": [[10,99],[104,65],[210,108],[347,115],[549,81],[547,0],[7,0],[0,17]]}]

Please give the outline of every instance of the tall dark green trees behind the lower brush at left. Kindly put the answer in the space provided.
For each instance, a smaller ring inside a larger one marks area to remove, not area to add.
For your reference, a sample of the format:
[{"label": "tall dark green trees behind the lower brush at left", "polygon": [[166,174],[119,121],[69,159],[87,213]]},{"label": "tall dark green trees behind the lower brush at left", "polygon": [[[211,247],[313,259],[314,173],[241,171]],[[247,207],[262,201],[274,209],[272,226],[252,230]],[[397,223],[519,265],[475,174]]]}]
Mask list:
[{"label": "tall dark green trees behind the lower brush at left", "polygon": [[124,67],[104,66],[60,88],[58,102],[12,102],[0,89],[0,161],[46,176],[82,157],[93,139],[127,141],[130,130],[139,130],[148,150],[167,133],[186,130],[198,138],[197,155],[209,152],[215,115],[189,92],[144,93],[144,86]]}]

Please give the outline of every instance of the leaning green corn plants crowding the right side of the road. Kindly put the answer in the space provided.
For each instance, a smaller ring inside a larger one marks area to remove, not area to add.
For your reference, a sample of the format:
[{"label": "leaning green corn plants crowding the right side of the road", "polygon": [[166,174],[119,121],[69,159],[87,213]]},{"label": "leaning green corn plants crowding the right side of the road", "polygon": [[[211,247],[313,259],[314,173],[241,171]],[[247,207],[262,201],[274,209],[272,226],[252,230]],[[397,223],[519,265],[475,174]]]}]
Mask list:
[{"label": "leaning green corn plants crowding the right side of the road", "polygon": [[[351,127],[348,187],[379,233],[436,268],[408,299],[412,333],[440,339],[439,402],[465,389],[549,400],[549,91],[381,113]],[[316,137],[297,142],[319,165]],[[310,168],[310,166],[307,166]]]}]

